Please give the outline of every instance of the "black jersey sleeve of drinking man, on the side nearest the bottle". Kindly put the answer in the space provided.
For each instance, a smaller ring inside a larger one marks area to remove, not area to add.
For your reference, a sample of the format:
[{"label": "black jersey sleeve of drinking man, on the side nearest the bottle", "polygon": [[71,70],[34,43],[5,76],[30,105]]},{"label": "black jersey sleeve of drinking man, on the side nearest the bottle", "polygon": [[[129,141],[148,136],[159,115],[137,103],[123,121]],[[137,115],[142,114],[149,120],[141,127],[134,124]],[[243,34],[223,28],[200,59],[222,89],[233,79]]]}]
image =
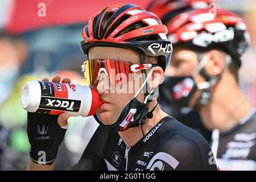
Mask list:
[{"label": "black jersey sleeve of drinking man, on the side nearest the bottle", "polygon": [[111,131],[108,128],[98,126],[79,162],[72,167],[72,170],[107,170],[106,163],[104,161],[104,147],[110,132]]}]

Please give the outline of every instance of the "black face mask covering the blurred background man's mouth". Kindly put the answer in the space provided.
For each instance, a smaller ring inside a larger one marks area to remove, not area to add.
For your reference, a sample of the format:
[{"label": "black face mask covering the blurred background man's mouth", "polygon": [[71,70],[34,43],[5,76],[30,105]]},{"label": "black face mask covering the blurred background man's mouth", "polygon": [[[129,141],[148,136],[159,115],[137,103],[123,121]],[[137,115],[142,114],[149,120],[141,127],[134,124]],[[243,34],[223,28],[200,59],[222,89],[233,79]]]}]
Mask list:
[{"label": "black face mask covering the blurred background man's mouth", "polygon": [[169,77],[165,76],[160,85],[163,98],[168,102],[180,107],[188,107],[191,97],[197,90],[192,77]]}]

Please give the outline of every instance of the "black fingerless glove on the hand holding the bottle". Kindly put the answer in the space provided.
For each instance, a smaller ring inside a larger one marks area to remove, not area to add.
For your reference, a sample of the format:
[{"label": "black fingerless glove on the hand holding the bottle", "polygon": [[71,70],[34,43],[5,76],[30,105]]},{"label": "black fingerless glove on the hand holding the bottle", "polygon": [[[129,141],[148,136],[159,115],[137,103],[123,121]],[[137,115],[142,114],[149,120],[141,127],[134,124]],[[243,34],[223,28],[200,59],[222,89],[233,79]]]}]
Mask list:
[{"label": "black fingerless glove on the hand holding the bottle", "polygon": [[64,139],[67,126],[57,123],[59,115],[27,113],[27,135],[31,144],[30,157],[37,164],[51,165]]}]

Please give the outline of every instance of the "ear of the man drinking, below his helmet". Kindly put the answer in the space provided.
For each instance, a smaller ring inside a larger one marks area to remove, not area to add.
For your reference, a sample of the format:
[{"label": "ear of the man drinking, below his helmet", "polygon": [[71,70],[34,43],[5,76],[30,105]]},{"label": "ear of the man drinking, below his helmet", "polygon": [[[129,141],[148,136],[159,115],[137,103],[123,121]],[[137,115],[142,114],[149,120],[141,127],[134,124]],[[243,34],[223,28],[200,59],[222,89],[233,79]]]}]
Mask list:
[{"label": "ear of the man drinking, below his helmet", "polygon": [[164,77],[164,71],[161,67],[154,67],[151,78],[149,80],[150,89],[155,89],[162,82]]}]

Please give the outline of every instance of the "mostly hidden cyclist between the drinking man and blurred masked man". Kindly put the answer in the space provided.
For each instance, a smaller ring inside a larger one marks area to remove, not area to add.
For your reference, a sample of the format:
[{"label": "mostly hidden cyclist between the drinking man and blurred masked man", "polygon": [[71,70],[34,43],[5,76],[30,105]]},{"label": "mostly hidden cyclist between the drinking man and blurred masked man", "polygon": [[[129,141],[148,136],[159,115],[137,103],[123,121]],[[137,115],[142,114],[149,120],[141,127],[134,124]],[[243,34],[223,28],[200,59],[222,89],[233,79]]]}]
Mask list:
[{"label": "mostly hidden cyclist between the drinking man and blurred masked man", "polygon": [[[176,15],[183,13],[184,11],[203,9],[213,5],[212,0],[153,0],[148,5],[147,10],[156,14],[162,20],[163,24],[168,24]],[[165,77],[168,77],[168,75],[165,75]],[[177,120],[183,124],[198,131],[208,142],[210,142],[212,131],[205,128],[198,111],[174,104],[169,99],[166,92],[168,93],[168,90],[166,91],[166,86],[159,85],[159,104],[162,106],[163,110],[177,118]]]}]

